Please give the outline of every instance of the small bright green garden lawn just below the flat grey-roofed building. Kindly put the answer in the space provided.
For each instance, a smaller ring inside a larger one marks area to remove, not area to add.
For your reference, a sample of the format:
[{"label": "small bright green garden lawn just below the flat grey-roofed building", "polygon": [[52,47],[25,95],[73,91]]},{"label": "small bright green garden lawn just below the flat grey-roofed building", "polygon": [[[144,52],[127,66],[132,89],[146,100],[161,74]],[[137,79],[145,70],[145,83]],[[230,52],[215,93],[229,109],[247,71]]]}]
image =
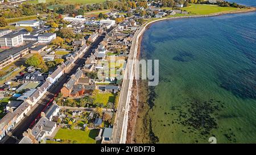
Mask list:
[{"label": "small bright green garden lawn just below the flat grey-roofed building", "polygon": [[114,103],[115,96],[113,93],[101,93],[97,92],[93,95],[94,101],[93,103],[103,103],[106,106],[109,102]]}]

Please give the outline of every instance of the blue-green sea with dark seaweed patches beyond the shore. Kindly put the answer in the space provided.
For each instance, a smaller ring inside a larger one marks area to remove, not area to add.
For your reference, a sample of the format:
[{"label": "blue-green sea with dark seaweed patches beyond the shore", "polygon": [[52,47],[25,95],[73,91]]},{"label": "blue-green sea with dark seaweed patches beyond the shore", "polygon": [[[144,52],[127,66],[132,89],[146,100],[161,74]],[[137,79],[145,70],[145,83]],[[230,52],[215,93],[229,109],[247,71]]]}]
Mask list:
[{"label": "blue-green sea with dark seaweed patches beyond the shore", "polygon": [[256,12],[154,23],[141,58],[159,60],[158,143],[256,143]]}]

